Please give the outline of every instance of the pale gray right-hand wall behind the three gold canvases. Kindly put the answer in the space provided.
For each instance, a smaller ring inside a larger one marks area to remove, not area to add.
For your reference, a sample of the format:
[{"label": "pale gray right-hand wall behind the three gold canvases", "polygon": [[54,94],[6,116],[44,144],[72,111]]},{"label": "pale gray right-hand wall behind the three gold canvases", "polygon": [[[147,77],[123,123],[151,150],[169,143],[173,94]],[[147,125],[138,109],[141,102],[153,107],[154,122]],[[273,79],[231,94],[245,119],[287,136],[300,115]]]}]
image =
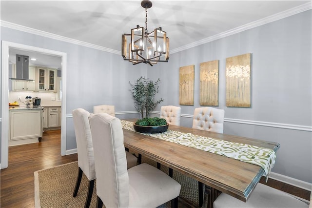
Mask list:
[{"label": "pale gray right-hand wall behind the three gold canvases", "polygon": [[[195,64],[195,104],[181,106],[182,116],[186,114],[181,125],[191,127],[189,117],[199,107],[199,63],[219,60],[217,108],[225,110],[227,119],[264,122],[264,126],[225,122],[224,133],[278,142],[273,172],[311,183],[312,132],[266,126],[312,126],[311,25],[309,10],[172,54],[166,65],[149,67],[148,77],[161,79],[162,105],[179,105],[179,67]],[[226,107],[226,58],[245,53],[252,53],[252,107]]]}]

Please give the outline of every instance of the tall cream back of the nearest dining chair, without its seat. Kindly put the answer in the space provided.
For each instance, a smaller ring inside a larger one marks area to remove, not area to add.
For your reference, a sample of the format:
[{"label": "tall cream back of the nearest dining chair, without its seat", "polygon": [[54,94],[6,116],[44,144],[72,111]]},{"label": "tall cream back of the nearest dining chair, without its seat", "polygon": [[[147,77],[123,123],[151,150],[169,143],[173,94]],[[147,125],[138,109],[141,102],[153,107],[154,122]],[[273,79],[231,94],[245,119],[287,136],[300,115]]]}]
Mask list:
[{"label": "tall cream back of the nearest dining chair, without its seat", "polygon": [[97,195],[105,207],[128,207],[129,176],[120,120],[106,113],[89,116],[97,174]]}]

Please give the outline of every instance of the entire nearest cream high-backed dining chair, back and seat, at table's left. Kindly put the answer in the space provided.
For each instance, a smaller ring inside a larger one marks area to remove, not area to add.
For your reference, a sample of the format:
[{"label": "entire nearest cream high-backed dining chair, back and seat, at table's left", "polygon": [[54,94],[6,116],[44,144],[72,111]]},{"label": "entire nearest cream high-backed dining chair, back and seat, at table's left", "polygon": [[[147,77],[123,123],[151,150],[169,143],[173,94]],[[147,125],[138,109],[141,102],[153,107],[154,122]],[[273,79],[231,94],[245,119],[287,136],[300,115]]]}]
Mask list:
[{"label": "entire nearest cream high-backed dining chair, back and seat, at table's left", "polygon": [[176,203],[180,184],[148,164],[127,170],[120,120],[108,114],[89,116],[97,173],[97,207],[157,207]]}]

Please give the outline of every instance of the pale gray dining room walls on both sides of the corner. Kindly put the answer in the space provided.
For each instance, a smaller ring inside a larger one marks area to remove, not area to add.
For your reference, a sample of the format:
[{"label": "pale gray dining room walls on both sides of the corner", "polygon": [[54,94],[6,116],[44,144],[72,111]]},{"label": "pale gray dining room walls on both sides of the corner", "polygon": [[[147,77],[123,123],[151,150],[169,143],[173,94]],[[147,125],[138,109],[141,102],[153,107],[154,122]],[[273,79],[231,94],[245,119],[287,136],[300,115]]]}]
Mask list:
[{"label": "pale gray dining room walls on both sides of the corner", "polygon": [[[218,108],[225,109],[224,133],[280,143],[273,172],[312,183],[312,132],[266,126],[312,126],[311,24],[309,10],[174,53],[168,63],[153,67],[133,66],[120,55],[5,27],[1,27],[1,40],[67,53],[67,150],[76,148],[70,118],[73,109],[82,107],[92,112],[93,105],[114,104],[116,111],[134,111],[129,81],[133,83],[141,75],[161,79],[157,95],[165,100],[161,105],[179,105],[179,67],[195,64],[195,105],[181,106],[181,124],[192,126],[190,117],[199,106],[199,63],[219,60]],[[229,108],[225,105],[225,60],[245,53],[252,53],[252,107]],[[160,105],[155,110],[159,109]],[[136,115],[118,115],[127,116]],[[234,119],[234,123],[227,119]],[[264,125],[246,125],[238,120]]]}]

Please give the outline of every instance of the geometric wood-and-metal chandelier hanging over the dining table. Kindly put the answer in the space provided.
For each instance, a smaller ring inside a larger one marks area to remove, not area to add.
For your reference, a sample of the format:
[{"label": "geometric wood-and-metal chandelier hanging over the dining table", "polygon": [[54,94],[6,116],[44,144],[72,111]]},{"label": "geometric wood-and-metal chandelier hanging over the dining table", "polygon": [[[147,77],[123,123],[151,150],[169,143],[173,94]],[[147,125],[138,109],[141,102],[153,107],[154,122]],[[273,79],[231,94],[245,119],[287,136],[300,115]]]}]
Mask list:
[{"label": "geometric wood-and-metal chandelier hanging over the dining table", "polygon": [[147,9],[152,2],[142,0],[141,6],[145,8],[145,28],[137,25],[131,29],[131,34],[122,35],[121,55],[123,60],[132,64],[148,63],[151,66],[157,62],[169,60],[169,38],[165,31],[158,27],[153,32],[147,30]]}]

